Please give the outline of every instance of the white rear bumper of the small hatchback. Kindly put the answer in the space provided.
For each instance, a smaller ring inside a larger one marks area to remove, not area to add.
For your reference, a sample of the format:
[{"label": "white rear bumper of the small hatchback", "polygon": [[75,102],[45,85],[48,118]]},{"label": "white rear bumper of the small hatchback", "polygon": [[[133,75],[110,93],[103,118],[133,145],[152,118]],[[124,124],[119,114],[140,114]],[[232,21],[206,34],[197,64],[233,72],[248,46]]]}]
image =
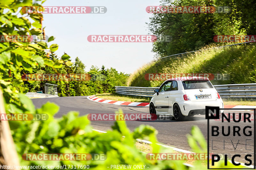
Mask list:
[{"label": "white rear bumper of the small hatchback", "polygon": [[224,108],[223,101],[217,99],[215,101],[181,101],[179,102],[180,110],[184,116],[193,116],[193,115],[205,115],[205,106],[215,106]]}]

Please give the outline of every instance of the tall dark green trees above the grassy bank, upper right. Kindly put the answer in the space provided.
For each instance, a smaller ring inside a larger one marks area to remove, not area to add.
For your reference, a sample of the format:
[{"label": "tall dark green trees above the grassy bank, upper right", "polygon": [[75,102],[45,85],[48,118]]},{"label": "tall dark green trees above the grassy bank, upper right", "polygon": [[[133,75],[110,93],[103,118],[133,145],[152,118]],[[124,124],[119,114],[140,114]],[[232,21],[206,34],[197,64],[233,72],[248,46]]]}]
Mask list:
[{"label": "tall dark green trees above the grassy bank, upper right", "polygon": [[[178,54],[215,43],[215,35],[255,35],[255,1],[249,0],[162,0],[163,6],[229,6],[229,13],[156,13],[148,27],[156,36],[171,35],[171,42],[156,41],[158,57]],[[218,9],[218,8],[216,8]]]}]

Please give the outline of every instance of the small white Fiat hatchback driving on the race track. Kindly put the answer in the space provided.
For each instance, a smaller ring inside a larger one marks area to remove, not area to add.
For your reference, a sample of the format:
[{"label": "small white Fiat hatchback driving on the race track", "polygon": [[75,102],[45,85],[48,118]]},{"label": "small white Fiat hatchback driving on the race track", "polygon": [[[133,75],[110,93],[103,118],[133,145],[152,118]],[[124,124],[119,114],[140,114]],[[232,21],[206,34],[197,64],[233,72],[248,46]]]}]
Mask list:
[{"label": "small white Fiat hatchback driving on the race track", "polygon": [[185,116],[205,115],[205,106],[224,108],[220,94],[209,78],[180,77],[166,80],[150,100],[151,117],[173,116],[184,120]]}]

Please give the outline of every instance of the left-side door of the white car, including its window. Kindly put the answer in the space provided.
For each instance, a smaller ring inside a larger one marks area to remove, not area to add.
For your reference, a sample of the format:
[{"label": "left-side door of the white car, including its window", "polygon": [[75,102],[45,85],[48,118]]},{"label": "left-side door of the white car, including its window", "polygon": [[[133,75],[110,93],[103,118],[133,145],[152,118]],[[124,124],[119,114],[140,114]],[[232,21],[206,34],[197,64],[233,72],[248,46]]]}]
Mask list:
[{"label": "left-side door of the white car, including its window", "polygon": [[169,95],[171,90],[172,81],[165,82],[160,88],[156,98],[156,112],[168,113],[169,111]]}]

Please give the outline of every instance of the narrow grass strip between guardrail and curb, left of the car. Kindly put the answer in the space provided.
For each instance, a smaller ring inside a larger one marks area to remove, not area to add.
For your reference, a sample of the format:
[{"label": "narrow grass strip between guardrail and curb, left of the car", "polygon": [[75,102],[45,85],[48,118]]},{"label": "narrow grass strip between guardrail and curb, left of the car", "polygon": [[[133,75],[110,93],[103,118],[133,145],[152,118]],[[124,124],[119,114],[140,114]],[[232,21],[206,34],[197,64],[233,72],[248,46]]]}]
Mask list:
[{"label": "narrow grass strip between guardrail and curb, left of the car", "polygon": [[142,102],[142,103],[149,103],[151,98],[149,97],[137,97],[137,96],[128,96],[122,95],[118,93],[102,93],[96,94],[98,98],[101,99],[108,99],[108,100],[116,100],[116,101],[130,101],[130,102]]}]

